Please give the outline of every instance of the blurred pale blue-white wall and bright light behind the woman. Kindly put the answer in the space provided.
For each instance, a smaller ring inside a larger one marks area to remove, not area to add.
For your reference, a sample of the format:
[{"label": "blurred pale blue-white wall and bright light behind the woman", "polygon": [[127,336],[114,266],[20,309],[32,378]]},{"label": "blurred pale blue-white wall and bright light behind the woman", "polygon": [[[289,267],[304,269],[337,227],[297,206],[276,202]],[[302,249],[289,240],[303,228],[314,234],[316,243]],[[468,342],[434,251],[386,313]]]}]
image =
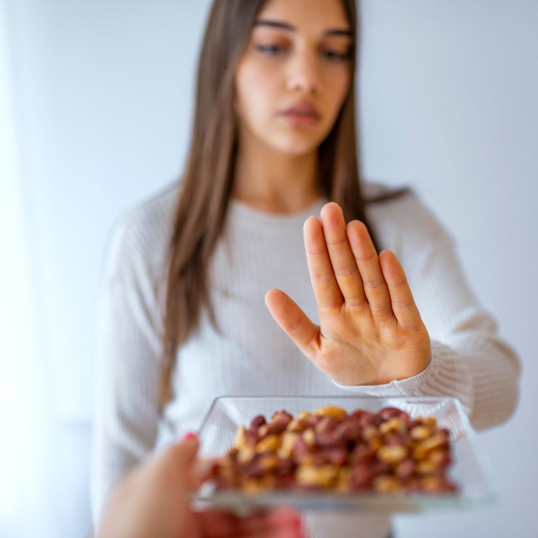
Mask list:
[{"label": "blurred pale blue-white wall and bright light behind the woman", "polygon": [[[178,178],[210,0],[0,0],[0,536],[90,530],[96,301],[118,216]],[[479,435],[493,508],[398,538],[538,536],[538,2],[363,0],[363,175],[411,185],[520,353]]]}]

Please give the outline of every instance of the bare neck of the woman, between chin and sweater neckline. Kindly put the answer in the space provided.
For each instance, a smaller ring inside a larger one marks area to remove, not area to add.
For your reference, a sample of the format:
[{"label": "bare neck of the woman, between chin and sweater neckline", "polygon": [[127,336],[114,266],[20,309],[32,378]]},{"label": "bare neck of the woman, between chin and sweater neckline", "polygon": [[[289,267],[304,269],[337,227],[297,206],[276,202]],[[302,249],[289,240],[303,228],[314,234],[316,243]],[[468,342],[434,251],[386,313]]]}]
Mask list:
[{"label": "bare neck of the woman, between chin and sweater neckline", "polygon": [[239,144],[232,198],[269,213],[295,213],[320,197],[315,150],[289,155],[245,138]]}]

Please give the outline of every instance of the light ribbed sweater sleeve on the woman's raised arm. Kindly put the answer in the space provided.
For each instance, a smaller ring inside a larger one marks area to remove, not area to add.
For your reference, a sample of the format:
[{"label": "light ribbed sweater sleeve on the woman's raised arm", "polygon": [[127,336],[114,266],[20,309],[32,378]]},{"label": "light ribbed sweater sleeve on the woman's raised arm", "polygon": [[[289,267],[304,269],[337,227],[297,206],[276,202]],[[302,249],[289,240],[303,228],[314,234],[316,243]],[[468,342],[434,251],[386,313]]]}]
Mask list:
[{"label": "light ribbed sweater sleeve on the woman's raised arm", "polygon": [[430,335],[429,365],[416,376],[386,385],[337,385],[364,395],[456,397],[475,429],[490,428],[514,412],[520,361],[471,292],[454,240],[432,219],[428,213],[435,232],[426,234],[426,244],[412,239],[412,250],[402,250],[399,257]]}]

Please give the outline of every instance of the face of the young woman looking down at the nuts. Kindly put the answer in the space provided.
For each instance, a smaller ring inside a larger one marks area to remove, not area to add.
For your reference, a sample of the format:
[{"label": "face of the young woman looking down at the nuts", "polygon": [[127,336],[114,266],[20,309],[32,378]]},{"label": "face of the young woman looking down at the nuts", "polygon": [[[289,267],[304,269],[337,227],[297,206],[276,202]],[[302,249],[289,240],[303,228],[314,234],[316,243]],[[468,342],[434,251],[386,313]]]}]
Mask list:
[{"label": "face of the young woman looking down at the nuts", "polygon": [[[293,155],[315,150],[348,92],[352,46],[341,0],[268,0],[236,71],[242,136]],[[286,114],[300,104],[317,115]]]}]

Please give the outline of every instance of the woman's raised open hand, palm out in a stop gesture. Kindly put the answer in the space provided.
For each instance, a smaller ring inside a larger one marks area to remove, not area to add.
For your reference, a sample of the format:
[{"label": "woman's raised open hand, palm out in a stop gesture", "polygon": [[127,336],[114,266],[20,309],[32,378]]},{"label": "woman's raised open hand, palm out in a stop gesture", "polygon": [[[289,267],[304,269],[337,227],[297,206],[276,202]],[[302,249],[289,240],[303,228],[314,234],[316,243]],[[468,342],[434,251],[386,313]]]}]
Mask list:
[{"label": "woman's raised open hand, palm out in a stop gesture", "polygon": [[321,222],[308,217],[303,233],[320,325],[284,292],[265,295],[303,355],[342,385],[380,385],[424,370],[430,338],[394,253],[378,256],[364,223],[346,226],[335,202],[323,206]]}]

